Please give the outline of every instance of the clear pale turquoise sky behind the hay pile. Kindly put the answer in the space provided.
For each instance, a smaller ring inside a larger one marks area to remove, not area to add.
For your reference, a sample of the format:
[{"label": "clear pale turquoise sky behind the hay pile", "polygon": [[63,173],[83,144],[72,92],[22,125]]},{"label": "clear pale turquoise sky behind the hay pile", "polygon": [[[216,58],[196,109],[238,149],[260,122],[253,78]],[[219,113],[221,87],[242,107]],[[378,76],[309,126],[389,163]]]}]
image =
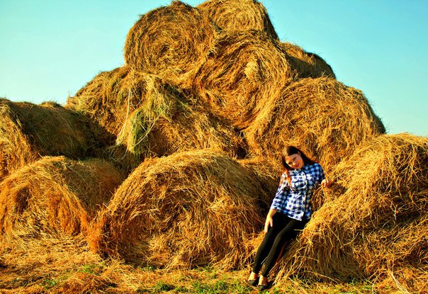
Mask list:
[{"label": "clear pale turquoise sky behind the hay pile", "polygon": [[[64,104],[98,72],[122,66],[139,15],[170,2],[0,0],[0,97]],[[427,0],[261,3],[279,38],[363,91],[388,133],[428,136]]]}]

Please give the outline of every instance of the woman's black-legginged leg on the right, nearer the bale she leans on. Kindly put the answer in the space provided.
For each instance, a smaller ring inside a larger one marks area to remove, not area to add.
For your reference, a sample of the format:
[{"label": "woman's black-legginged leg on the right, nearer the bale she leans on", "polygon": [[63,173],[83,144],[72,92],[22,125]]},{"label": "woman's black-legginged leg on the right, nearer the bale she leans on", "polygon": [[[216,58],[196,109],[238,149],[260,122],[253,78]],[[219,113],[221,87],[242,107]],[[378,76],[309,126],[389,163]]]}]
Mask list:
[{"label": "woman's black-legginged leg on the right, nearer the bale she leans on", "polygon": [[303,230],[307,220],[293,220],[292,218],[288,218],[288,222],[286,227],[283,227],[283,230],[276,235],[273,244],[271,245],[271,250],[266,258],[266,263],[264,264],[263,271],[261,273],[262,277],[267,277],[269,275],[269,271],[274,267],[276,260],[281,254],[281,249],[283,248],[286,242],[294,239],[300,230]]}]

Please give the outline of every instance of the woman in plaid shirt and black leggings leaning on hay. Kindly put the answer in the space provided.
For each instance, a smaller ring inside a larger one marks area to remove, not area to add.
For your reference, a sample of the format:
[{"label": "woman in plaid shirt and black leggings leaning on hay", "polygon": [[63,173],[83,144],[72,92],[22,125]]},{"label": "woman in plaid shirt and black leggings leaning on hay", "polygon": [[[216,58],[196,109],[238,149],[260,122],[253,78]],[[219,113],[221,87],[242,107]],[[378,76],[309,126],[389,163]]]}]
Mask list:
[{"label": "woman in plaid shirt and black leggings leaning on hay", "polygon": [[[282,152],[283,174],[278,191],[264,224],[264,239],[257,250],[248,283],[260,290],[268,287],[267,277],[286,242],[303,230],[312,215],[310,198],[319,184],[328,187],[320,164],[312,161],[298,148],[287,146]],[[259,271],[264,263],[263,271]]]}]

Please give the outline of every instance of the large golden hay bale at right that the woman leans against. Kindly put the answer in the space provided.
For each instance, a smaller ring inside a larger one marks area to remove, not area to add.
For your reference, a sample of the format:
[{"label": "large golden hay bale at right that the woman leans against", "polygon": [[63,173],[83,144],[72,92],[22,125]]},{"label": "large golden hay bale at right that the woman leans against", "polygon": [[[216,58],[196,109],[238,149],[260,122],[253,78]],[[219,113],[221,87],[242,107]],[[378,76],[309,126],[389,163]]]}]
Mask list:
[{"label": "large golden hay bale at right that the woman leans against", "polygon": [[314,213],[279,277],[293,272],[378,281],[406,268],[426,270],[427,137],[380,135],[335,174],[344,193]]}]

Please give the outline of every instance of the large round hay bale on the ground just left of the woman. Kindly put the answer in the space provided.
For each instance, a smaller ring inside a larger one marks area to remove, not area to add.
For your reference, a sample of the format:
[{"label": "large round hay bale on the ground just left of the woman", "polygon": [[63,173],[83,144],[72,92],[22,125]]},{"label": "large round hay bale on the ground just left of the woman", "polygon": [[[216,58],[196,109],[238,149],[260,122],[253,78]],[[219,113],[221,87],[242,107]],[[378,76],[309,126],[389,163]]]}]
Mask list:
[{"label": "large round hay bale on the ground just left of the woman", "polygon": [[247,169],[210,149],[147,159],[98,217],[90,247],[137,264],[233,268],[261,230],[264,193]]}]

